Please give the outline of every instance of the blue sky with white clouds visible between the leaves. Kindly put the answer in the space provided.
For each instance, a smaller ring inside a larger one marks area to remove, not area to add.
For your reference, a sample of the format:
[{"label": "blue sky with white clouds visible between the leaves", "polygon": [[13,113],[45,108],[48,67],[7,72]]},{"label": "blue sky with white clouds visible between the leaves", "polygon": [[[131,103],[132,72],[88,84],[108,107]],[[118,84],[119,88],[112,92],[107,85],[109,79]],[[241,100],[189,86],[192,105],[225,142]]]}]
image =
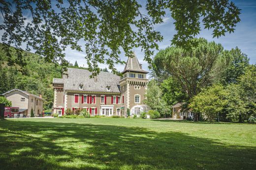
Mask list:
[{"label": "blue sky with white clouds visible between the leaves", "polygon": [[[140,1],[144,6],[145,1]],[[208,41],[215,41],[216,43],[221,43],[225,50],[230,50],[232,48],[238,47],[241,49],[242,53],[245,53],[250,58],[251,64],[256,64],[256,0],[233,0],[236,6],[241,9],[240,23],[237,24],[234,33],[227,33],[225,36],[219,38],[213,38],[211,30],[202,29],[197,37],[203,37]],[[144,3],[144,4],[143,4]],[[142,11],[145,10],[144,8]],[[163,41],[158,43],[159,49],[165,49],[170,46],[171,39],[175,34],[175,29],[173,22],[174,20],[170,16],[170,12],[166,12],[163,18],[163,23],[154,26],[157,31],[160,31],[163,36]],[[202,28],[202,27],[201,27]],[[0,30],[1,31],[1,30]],[[0,35],[2,32],[0,32]],[[81,42],[82,45],[82,42]],[[32,51],[33,52],[33,51]],[[143,60],[144,54],[139,48],[134,49],[135,55],[137,56],[139,62],[142,64],[144,70],[148,70],[148,63]],[[155,54],[157,51],[155,52]],[[66,59],[74,64],[75,61],[78,62],[79,66],[87,66],[86,55],[83,52],[77,52],[67,48],[65,51]],[[121,53],[121,59],[127,60],[124,53]],[[100,68],[105,68],[107,65],[100,64]],[[118,71],[123,71],[124,65],[116,65]]]}]

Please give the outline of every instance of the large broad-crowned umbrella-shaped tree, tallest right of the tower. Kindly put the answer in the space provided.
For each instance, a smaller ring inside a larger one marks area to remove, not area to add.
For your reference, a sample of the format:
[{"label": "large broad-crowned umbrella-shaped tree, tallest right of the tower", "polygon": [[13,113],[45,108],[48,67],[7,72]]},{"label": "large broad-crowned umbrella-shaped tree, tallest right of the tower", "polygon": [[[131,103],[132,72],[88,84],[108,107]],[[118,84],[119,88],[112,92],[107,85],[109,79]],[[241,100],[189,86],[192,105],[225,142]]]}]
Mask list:
[{"label": "large broad-crowned umbrella-shaped tree, tallest right of the tower", "polygon": [[197,47],[187,51],[179,47],[161,50],[154,58],[156,74],[168,73],[189,99],[202,88],[220,81],[230,54],[221,44],[194,39]]}]

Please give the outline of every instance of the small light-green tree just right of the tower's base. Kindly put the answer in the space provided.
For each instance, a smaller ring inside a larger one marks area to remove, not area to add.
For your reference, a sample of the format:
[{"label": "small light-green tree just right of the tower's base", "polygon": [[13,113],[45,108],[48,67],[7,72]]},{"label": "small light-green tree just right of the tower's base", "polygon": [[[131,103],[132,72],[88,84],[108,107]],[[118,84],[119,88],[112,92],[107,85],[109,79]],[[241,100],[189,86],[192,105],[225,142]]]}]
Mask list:
[{"label": "small light-green tree just right of the tower's base", "polygon": [[151,110],[156,110],[164,116],[168,112],[168,108],[164,100],[161,99],[162,92],[159,84],[155,80],[151,80],[146,90],[144,103],[150,107]]}]

